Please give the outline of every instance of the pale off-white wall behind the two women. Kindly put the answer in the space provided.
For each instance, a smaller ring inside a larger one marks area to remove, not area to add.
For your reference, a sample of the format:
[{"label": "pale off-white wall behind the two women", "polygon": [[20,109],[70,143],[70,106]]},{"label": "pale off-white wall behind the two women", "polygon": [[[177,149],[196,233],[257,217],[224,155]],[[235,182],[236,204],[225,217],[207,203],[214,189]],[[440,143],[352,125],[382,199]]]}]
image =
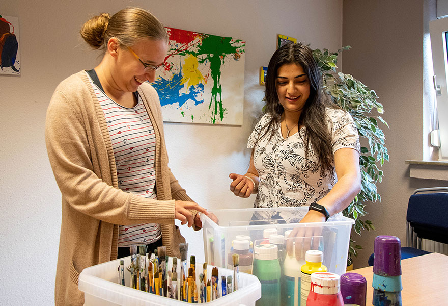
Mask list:
[{"label": "pale off-white wall behind the two women", "polygon": [[[244,124],[165,124],[170,166],[183,187],[208,209],[251,207],[228,191],[230,172],[245,172],[246,140],[262,108],[260,66],[267,66],[278,33],[312,47],[342,45],[342,0],[290,1],[2,1],[0,15],[20,23],[20,77],[0,75],[0,304],[50,305],[61,222],[60,192],[44,144],[45,112],[54,88],[100,54],[80,38],[92,14],[141,6],[165,25],[246,41]],[[202,233],[183,228],[198,261]],[[190,247],[190,250],[191,250]]]}]

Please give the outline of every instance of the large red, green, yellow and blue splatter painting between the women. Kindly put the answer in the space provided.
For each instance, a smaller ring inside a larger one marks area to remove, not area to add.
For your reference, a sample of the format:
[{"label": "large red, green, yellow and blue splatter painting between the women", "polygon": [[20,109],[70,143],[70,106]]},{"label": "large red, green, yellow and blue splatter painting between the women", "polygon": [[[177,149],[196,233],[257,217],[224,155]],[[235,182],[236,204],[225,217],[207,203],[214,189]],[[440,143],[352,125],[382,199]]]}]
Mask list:
[{"label": "large red, green, yellow and blue splatter painting between the women", "polygon": [[163,120],[243,123],[245,41],[166,28],[169,54],[153,86]]}]

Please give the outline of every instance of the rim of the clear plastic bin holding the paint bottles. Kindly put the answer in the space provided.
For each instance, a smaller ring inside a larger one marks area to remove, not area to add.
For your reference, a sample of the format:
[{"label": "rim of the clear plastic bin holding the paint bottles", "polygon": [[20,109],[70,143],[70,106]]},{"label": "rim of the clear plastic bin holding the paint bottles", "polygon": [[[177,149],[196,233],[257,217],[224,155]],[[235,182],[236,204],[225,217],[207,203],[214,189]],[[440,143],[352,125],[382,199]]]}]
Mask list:
[{"label": "rim of the clear plastic bin holding the paint bottles", "polygon": [[[301,210],[307,210],[307,207],[282,207],[280,208],[282,210],[288,211],[288,210],[297,210],[297,209],[301,209]],[[272,210],[271,208],[239,208],[239,209],[214,209],[214,210],[208,210],[208,212],[210,213],[215,213],[215,212],[235,212],[236,210],[238,211],[243,211],[243,212],[255,212],[255,211],[269,211]],[[251,230],[261,230],[264,228],[276,228],[276,227],[291,227],[291,225],[297,226],[297,227],[315,227],[315,226],[335,226],[335,225],[353,225],[355,224],[355,220],[351,219],[351,218],[347,218],[344,216],[341,216],[343,218],[345,218],[346,220],[344,221],[327,221],[327,222],[308,222],[308,223],[277,223],[277,224],[260,224],[260,225],[237,225],[237,226],[222,226],[222,225],[218,225],[215,222],[213,222],[207,215],[204,215],[202,213],[199,213],[199,217],[201,219],[201,221],[204,222],[204,218],[207,218],[209,220],[210,226],[215,228],[215,230],[224,230],[225,228],[230,228],[232,227],[233,231],[239,231],[239,230],[248,230],[249,228]],[[310,225],[309,225],[310,224]]]}]

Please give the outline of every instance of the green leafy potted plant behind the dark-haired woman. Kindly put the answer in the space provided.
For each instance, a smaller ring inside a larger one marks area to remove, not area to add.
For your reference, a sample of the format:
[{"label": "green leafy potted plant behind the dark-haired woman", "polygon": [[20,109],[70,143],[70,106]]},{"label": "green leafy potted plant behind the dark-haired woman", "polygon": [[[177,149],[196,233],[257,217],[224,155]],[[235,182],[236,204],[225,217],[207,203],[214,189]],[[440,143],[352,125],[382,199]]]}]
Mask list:
[{"label": "green leafy potted plant behind the dark-haired woman", "polygon": [[[352,77],[350,74],[337,72],[338,54],[342,50],[348,50],[350,46],[343,47],[338,52],[330,52],[323,49],[313,50],[313,56],[319,65],[322,75],[324,92],[330,96],[333,103],[348,111],[355,121],[361,142],[361,155],[359,164],[361,169],[361,191],[343,211],[344,216],[355,221],[354,231],[361,235],[361,230],[375,230],[372,221],[361,220],[367,213],[364,210],[368,201],[381,201],[376,184],[382,181],[383,171],[378,168],[389,160],[387,148],[384,144],[384,133],[378,126],[378,121],[387,127],[388,124],[381,116],[372,113],[376,110],[383,113],[383,106],[376,99],[375,91]],[[366,146],[363,146],[366,145]],[[353,256],[357,256],[357,250],[362,249],[350,238],[349,256],[347,265],[353,263]]]}]

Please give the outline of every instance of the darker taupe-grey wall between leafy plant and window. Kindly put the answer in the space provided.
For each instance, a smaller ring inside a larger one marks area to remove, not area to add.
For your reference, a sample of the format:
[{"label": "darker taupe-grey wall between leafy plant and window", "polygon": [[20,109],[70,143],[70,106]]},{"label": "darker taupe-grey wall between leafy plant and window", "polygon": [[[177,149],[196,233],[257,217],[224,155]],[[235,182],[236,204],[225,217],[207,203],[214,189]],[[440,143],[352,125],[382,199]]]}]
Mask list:
[{"label": "darker taupe-grey wall between leafy plant and window", "polygon": [[[365,249],[355,268],[367,265],[377,235],[398,236],[406,243],[406,209],[417,188],[446,186],[446,181],[411,179],[405,160],[431,155],[428,110],[423,103],[423,1],[343,1],[344,73],[374,89],[384,106],[382,116],[390,161],[382,167],[381,202],[369,203],[367,218],[376,231],[353,236]],[[424,132],[425,131],[425,132]]]}]

